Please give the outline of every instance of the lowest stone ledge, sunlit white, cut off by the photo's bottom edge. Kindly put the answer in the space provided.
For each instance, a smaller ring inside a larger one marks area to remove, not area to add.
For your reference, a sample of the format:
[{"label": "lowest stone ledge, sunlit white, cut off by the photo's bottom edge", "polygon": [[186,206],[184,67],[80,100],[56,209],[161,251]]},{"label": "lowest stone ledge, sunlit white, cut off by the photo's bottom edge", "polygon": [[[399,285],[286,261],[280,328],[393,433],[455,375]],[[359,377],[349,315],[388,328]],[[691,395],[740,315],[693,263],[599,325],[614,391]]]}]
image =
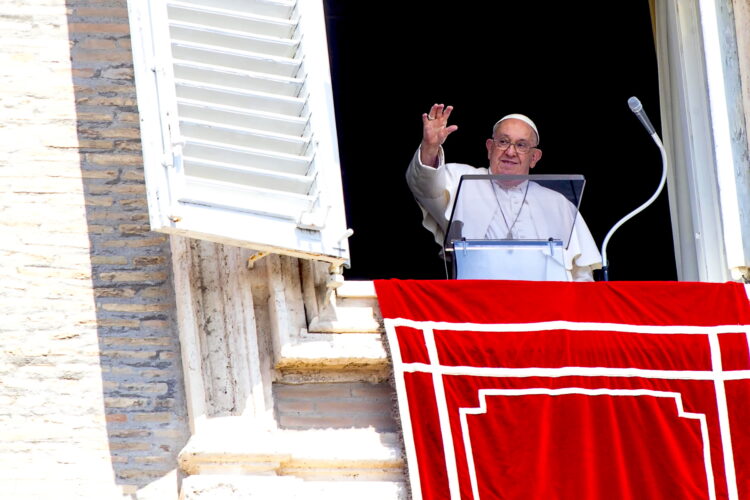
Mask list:
[{"label": "lowest stone ledge, sunlit white, cut off by the photo's bottom edge", "polygon": [[291,476],[190,476],[180,500],[406,500],[403,481],[305,481]]}]

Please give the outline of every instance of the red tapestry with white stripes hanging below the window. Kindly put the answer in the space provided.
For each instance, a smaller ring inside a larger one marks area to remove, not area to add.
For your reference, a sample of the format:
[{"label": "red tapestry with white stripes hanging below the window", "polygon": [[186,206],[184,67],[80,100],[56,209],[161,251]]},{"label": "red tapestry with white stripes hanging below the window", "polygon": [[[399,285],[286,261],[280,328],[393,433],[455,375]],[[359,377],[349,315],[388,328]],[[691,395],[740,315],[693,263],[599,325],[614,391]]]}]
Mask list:
[{"label": "red tapestry with white stripes hanging below the window", "polygon": [[415,500],[750,500],[744,286],[375,287]]}]

